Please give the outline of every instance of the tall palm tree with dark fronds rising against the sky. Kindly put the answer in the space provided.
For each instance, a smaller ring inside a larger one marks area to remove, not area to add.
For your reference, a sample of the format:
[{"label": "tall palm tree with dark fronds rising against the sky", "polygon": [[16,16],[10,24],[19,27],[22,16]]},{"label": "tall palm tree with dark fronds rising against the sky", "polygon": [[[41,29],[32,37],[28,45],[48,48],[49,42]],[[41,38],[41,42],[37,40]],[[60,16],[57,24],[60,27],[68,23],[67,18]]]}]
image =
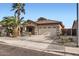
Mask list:
[{"label": "tall palm tree with dark fronds rising against the sky", "polygon": [[21,35],[20,34],[20,21],[21,19],[23,19],[23,17],[20,17],[20,15],[23,13],[25,14],[25,4],[24,3],[13,3],[12,4],[12,10],[15,11],[14,13],[14,16],[16,17],[16,23],[17,23],[17,26],[15,28],[15,35],[18,36],[18,35]]}]

